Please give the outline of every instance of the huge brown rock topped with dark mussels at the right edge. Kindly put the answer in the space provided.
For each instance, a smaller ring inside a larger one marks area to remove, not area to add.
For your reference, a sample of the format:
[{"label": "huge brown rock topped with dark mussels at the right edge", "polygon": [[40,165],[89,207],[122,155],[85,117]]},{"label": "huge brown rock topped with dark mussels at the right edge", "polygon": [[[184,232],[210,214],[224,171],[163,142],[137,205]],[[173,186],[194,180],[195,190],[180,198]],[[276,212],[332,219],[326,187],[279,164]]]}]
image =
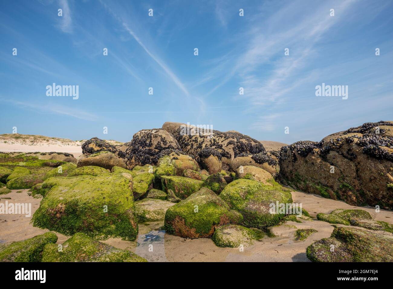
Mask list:
[{"label": "huge brown rock topped with dark mussels at the right edge", "polygon": [[283,146],[279,179],[350,205],[393,209],[393,122],[365,123],[320,142]]}]

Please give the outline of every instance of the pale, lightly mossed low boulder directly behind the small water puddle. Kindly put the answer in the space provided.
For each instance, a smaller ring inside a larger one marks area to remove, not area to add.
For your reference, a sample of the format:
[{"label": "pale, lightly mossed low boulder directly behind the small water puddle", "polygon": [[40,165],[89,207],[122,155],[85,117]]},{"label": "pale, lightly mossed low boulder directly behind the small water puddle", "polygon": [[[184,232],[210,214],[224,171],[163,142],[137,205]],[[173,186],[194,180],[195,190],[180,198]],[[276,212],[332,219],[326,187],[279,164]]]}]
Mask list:
[{"label": "pale, lightly mossed low boulder directly behind the small water puddle", "polygon": [[174,203],[160,199],[145,198],[135,202],[135,214],[138,222],[161,221],[165,218],[165,212]]}]

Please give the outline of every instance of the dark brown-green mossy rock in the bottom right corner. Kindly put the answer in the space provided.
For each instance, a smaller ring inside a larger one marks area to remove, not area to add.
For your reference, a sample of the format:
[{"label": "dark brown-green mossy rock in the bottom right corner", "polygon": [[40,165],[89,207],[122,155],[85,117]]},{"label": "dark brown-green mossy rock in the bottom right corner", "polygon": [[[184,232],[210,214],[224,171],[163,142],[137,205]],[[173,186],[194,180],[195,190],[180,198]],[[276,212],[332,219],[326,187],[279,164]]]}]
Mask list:
[{"label": "dark brown-green mossy rock in the bottom right corner", "polygon": [[330,238],[307,247],[307,258],[313,262],[393,262],[393,237],[338,227]]}]

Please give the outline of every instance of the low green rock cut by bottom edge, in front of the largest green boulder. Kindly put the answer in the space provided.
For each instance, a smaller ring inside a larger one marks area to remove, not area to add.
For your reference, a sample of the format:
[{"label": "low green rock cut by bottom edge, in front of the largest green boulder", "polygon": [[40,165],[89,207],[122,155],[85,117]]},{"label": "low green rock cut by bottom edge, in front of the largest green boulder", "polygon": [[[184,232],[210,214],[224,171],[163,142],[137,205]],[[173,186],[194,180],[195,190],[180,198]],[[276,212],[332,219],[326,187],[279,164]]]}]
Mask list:
[{"label": "low green rock cut by bottom edge, in front of the largest green boulder", "polygon": [[47,244],[42,252],[42,262],[147,262],[128,250],[117,249],[96,241],[86,234],[75,233],[62,244]]}]

